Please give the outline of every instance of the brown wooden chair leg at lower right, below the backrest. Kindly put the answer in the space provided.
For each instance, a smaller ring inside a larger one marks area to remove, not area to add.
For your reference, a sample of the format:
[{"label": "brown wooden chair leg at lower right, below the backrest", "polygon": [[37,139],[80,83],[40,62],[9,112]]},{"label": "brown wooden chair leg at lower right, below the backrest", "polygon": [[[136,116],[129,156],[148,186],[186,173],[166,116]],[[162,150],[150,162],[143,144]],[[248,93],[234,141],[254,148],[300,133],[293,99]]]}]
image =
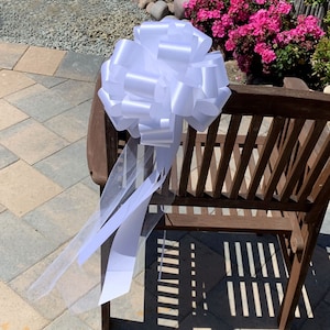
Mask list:
[{"label": "brown wooden chair leg at lower right, below the backrest", "polygon": [[294,319],[295,309],[301,295],[311,255],[317,243],[318,233],[319,229],[316,228],[315,224],[304,224],[302,235],[305,237],[306,248],[304,249],[302,254],[295,254],[292,264],[289,279],[278,315],[279,330],[290,329],[289,322]]}]

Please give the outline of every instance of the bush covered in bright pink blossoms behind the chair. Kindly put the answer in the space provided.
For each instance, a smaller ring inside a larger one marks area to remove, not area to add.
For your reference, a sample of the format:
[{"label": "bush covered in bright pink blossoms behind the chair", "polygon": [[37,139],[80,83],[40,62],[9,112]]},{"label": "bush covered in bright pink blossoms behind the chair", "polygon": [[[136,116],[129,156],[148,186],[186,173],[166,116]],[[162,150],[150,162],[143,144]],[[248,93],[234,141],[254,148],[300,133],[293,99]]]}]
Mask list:
[{"label": "bush covered in bright pink blossoms behind the chair", "polygon": [[189,0],[185,14],[242,72],[273,81],[292,75],[308,78],[310,57],[323,35],[317,18],[294,18],[286,0]]}]

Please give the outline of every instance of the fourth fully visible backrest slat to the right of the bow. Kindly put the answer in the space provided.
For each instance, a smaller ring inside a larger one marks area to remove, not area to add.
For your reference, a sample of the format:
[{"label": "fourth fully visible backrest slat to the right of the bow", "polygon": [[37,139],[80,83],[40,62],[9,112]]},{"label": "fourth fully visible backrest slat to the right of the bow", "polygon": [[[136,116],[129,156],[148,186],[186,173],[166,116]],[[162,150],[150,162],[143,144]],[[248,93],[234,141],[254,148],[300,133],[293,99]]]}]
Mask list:
[{"label": "fourth fully visible backrest slat to the right of the bow", "polygon": [[283,175],[283,172],[284,172],[285,166],[287,165],[287,162],[289,161],[293,148],[297,142],[297,139],[304,127],[304,123],[305,123],[305,119],[300,118],[300,119],[294,120],[292,129],[289,130],[290,132],[288,133],[288,136],[285,140],[283,150],[278,154],[278,158],[276,161],[275,167],[272,172],[270,182],[267,183],[267,187],[266,187],[266,191],[265,191],[265,196],[264,196],[265,200],[271,200],[273,198],[276,186],[280,179],[280,176]]}]

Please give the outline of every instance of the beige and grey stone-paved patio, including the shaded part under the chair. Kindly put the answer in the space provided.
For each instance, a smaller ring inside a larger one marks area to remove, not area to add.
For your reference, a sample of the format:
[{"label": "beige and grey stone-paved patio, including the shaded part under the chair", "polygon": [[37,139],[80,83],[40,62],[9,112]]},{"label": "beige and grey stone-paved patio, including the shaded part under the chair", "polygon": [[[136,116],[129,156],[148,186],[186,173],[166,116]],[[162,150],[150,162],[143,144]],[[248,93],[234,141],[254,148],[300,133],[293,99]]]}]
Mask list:
[{"label": "beige and grey stone-paved patio, including the shaded part under the chair", "polygon": [[[2,330],[101,328],[99,308],[73,315],[56,296],[30,301],[26,288],[98,204],[86,133],[102,62],[0,43]],[[131,321],[118,321],[113,329],[276,329],[286,274],[275,238],[168,233],[166,266],[157,280],[162,237],[152,234],[145,262],[143,254],[140,258],[146,271],[138,272],[132,293],[113,304],[113,314]],[[329,257],[330,212],[293,329],[330,329]]]}]

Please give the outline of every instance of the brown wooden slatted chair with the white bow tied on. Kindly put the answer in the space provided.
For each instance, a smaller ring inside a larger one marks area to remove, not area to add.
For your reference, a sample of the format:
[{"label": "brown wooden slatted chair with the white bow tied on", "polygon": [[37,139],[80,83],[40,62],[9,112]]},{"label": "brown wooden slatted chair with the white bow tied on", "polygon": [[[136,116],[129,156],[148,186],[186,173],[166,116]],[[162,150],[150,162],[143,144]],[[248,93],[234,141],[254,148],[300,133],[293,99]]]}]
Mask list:
[{"label": "brown wooden slatted chair with the white bow tied on", "polygon": [[[207,132],[188,127],[183,133],[183,157],[152,199],[162,205],[163,194],[175,191],[160,228],[278,235],[289,273],[279,329],[294,318],[330,196],[330,97],[292,89],[296,82],[287,80],[288,88],[231,85],[232,96]],[[101,188],[125,141],[96,96],[88,164]],[[179,206],[187,207],[186,215],[176,211]],[[108,250],[109,243],[102,253]],[[109,312],[110,304],[103,305],[102,329],[110,327]]]}]

